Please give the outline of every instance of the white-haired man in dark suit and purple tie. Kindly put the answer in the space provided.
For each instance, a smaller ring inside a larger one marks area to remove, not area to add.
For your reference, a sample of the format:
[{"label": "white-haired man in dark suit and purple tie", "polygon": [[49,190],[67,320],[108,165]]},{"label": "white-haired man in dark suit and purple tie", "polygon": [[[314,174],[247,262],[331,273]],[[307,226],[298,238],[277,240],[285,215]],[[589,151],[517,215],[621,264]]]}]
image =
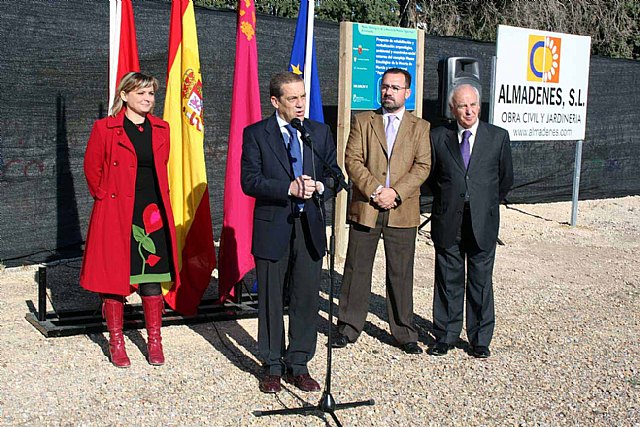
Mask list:
[{"label": "white-haired man in dark suit and purple tie", "polygon": [[449,95],[456,118],[431,132],[431,239],[436,250],[433,330],[429,354],[442,356],[462,331],[465,298],[469,352],[487,358],[493,336],[493,264],[500,201],[513,184],[509,134],[479,120],[478,90],[465,84]]}]

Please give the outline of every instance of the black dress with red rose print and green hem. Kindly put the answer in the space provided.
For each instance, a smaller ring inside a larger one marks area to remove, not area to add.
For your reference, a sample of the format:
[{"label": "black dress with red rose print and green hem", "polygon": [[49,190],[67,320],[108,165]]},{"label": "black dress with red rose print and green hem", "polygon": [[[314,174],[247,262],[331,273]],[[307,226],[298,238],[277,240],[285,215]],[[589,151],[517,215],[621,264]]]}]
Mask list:
[{"label": "black dress with red rose print and green hem", "polygon": [[131,230],[131,284],[171,281],[166,215],[153,165],[151,125],[126,116],[124,130],[136,150],[138,169]]}]

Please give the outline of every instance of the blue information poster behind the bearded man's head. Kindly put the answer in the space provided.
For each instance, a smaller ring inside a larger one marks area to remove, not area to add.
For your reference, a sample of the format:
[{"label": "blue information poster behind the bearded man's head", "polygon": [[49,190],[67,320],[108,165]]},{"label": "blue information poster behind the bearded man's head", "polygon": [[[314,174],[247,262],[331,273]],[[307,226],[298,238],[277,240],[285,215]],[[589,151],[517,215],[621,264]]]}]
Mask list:
[{"label": "blue information poster behind the bearded man's head", "polygon": [[[380,82],[388,68],[407,70],[415,80],[418,31],[410,28],[353,24],[352,110],[380,108]],[[415,82],[407,110],[415,110]]]}]

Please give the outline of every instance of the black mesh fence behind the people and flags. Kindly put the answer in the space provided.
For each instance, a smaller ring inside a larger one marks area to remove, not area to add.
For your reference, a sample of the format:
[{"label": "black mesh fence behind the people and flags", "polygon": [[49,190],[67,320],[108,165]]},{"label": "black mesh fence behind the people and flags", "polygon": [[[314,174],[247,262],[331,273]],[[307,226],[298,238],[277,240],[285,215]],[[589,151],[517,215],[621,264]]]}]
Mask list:
[{"label": "black mesh fence behind the people and flags", "polygon": [[[140,63],[162,82],[170,3],[134,1]],[[205,154],[214,234],[222,225],[223,181],[233,91],[236,14],[196,8],[205,100]],[[258,16],[263,115],[271,114],[270,76],[287,67],[295,21]],[[339,26],[316,22],[327,122],[335,129]],[[480,60],[489,87],[493,44],[427,37],[424,112],[439,123],[438,61]],[[109,3],[101,0],[7,1],[0,20],[0,262],[40,262],[81,254],[92,200],[82,161],[94,120],[106,115]],[[593,57],[580,197],[638,194],[640,63]],[[483,105],[488,111],[488,105]],[[573,142],[513,142],[511,202],[571,198]]]}]

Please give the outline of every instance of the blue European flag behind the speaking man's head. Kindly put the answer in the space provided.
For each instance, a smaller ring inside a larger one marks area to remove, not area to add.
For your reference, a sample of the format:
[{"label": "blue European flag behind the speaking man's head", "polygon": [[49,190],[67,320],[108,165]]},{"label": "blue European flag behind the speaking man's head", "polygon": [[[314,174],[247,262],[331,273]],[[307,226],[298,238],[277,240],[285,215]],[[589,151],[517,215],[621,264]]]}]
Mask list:
[{"label": "blue European flag behind the speaking man's head", "polygon": [[[309,76],[304,75],[304,61],[307,43],[307,21],[313,19],[308,16],[309,0],[300,0],[300,10],[298,12],[298,22],[296,24],[296,34],[293,38],[293,47],[291,48],[291,59],[289,60],[289,71],[300,74],[305,82]],[[310,35],[313,38],[313,34]],[[320,95],[320,79],[318,78],[318,66],[316,65],[316,49],[315,41],[312,43],[311,50],[311,89],[307,93],[307,103],[309,103],[309,118],[324,123],[324,114],[322,113],[322,96]]]}]

